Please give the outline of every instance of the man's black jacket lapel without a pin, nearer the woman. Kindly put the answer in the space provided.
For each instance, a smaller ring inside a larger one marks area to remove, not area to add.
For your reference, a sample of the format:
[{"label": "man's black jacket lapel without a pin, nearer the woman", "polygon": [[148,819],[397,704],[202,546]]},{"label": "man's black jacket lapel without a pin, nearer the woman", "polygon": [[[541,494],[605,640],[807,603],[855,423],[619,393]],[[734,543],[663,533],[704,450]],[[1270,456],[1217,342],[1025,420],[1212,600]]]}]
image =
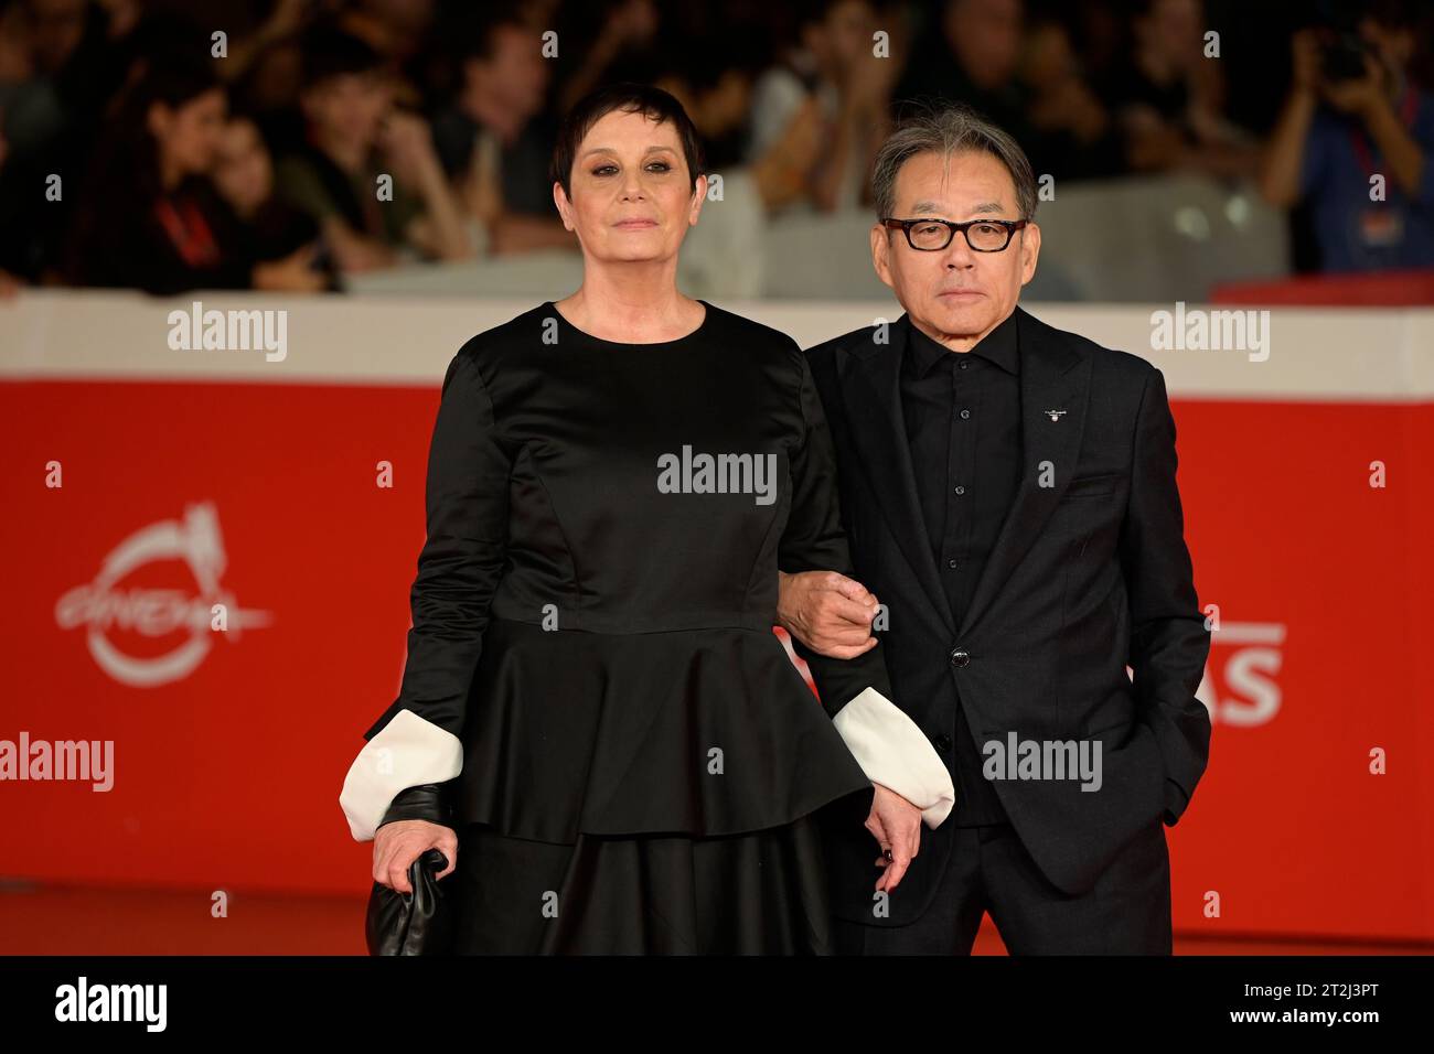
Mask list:
[{"label": "man's black jacket lapel without a pin, nearer the woman", "polygon": [[905,315],[888,326],[891,341],[886,344],[876,343],[876,330],[872,328],[865,338],[849,346],[839,383],[862,467],[882,515],[942,624],[954,634],[955,619],[941,588],[936,559],[931,555],[931,536],[916,495],[916,472],[901,407],[906,326]]}]

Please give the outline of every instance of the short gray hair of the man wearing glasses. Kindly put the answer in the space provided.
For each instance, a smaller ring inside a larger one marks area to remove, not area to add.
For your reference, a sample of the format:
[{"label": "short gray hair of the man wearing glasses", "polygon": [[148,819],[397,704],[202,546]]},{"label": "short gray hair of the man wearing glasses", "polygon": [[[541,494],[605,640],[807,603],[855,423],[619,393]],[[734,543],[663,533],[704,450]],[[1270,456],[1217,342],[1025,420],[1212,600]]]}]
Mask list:
[{"label": "short gray hair of the man wearing glasses", "polygon": [[[992,155],[1005,165],[1015,184],[1015,204],[1021,209],[1017,219],[1035,217],[1035,174],[1025,151],[1010,135],[985,120],[962,103],[928,106],[901,122],[876,152],[872,169],[872,196],[876,218],[892,215],[896,208],[896,174],[918,153],[952,153],[978,151]],[[902,217],[909,219],[913,217]]]}]

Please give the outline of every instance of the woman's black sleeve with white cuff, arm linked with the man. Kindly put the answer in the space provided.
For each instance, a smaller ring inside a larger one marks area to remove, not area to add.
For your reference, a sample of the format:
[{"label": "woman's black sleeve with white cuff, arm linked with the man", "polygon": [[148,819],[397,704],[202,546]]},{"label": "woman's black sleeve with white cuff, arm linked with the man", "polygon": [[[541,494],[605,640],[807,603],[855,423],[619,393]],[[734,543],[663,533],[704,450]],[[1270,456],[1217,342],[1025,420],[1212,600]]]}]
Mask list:
[{"label": "woman's black sleeve with white cuff, arm linked with the man", "polygon": [[[777,564],[787,574],[837,571],[852,575],[842,529],[836,452],[812,367],[800,350],[796,357],[803,437],[792,452],[792,511],[777,548]],[[868,779],[918,806],[928,827],[941,826],[956,803],[951,771],[916,723],[891,701],[882,645],[850,660],[820,655],[796,637],[792,647],[806,660],[823,708]]]}]

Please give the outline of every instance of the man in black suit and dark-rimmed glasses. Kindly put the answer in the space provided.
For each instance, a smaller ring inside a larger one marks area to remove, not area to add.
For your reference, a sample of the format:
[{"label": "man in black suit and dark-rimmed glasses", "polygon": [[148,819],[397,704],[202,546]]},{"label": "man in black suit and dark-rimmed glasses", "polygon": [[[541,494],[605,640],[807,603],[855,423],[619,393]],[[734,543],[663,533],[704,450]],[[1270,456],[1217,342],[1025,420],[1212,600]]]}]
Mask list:
[{"label": "man in black suit and dark-rimmed glasses", "polygon": [[885,651],[956,804],[827,810],[839,951],[969,954],[988,911],[1012,954],[1169,954],[1210,720],[1164,379],[1017,307],[1035,179],[994,125],[908,122],[873,189],[905,314],[807,351],[859,581],[783,575],[779,618],[809,660]]}]

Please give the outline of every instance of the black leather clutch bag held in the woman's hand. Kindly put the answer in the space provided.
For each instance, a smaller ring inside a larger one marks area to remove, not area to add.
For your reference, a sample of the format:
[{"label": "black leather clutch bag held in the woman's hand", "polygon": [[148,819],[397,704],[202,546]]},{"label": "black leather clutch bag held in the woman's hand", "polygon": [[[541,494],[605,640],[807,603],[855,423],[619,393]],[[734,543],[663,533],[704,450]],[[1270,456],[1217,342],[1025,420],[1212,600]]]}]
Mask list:
[{"label": "black leather clutch bag held in the woman's hand", "polygon": [[[445,827],[449,809],[443,787],[426,783],[400,792],[383,815],[393,820],[429,820]],[[373,883],[364,936],[370,955],[447,955],[453,949],[453,893],[435,875],[447,868],[447,858],[429,849],[409,865],[412,893],[400,893],[381,882]]]}]

